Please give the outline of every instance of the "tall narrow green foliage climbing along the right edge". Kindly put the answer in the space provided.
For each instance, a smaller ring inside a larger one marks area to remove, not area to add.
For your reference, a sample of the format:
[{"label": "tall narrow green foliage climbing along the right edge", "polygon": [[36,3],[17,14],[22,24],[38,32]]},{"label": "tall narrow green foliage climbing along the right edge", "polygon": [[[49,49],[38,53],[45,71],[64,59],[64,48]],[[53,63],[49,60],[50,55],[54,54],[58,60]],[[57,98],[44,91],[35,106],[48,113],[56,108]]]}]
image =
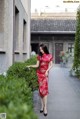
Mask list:
[{"label": "tall narrow green foliage climbing along the right edge", "polygon": [[74,47],[74,63],[73,69],[78,77],[80,77],[80,6],[77,10],[77,23]]}]

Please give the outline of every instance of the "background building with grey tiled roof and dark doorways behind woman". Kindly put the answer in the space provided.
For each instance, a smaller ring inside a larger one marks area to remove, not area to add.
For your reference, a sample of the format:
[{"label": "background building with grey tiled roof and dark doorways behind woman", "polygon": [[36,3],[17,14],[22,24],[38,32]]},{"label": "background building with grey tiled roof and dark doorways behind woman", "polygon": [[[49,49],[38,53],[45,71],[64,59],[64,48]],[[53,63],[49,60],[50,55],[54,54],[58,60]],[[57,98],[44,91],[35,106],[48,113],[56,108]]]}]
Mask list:
[{"label": "background building with grey tiled roof and dark doorways behind woman", "polygon": [[47,45],[54,57],[54,63],[60,63],[60,52],[72,53],[74,49],[76,13],[32,14],[31,46],[38,53],[40,43]]}]

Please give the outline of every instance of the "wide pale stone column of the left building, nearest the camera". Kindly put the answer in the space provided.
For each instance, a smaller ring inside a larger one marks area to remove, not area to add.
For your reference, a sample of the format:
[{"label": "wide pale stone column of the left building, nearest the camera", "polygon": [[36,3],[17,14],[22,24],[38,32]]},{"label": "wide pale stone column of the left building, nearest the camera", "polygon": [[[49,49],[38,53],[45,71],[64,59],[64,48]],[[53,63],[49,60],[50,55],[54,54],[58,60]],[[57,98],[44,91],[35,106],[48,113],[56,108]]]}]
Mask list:
[{"label": "wide pale stone column of the left building, nearest the camera", "polygon": [[13,2],[14,0],[5,0],[4,2],[4,47],[6,54],[3,71],[7,70],[13,63]]}]

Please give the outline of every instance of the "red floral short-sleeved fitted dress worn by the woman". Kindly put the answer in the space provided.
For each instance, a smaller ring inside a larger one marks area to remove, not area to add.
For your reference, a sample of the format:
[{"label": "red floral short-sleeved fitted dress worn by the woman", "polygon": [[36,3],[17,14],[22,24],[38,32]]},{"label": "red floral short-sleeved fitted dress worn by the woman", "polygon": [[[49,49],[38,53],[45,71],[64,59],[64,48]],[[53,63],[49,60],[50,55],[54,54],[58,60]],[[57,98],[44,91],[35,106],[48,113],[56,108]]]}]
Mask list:
[{"label": "red floral short-sleeved fitted dress worn by the woman", "polygon": [[48,94],[48,77],[45,75],[48,69],[49,62],[53,60],[51,54],[43,54],[43,56],[37,56],[40,62],[39,69],[37,69],[38,84],[39,84],[39,94],[44,97]]}]

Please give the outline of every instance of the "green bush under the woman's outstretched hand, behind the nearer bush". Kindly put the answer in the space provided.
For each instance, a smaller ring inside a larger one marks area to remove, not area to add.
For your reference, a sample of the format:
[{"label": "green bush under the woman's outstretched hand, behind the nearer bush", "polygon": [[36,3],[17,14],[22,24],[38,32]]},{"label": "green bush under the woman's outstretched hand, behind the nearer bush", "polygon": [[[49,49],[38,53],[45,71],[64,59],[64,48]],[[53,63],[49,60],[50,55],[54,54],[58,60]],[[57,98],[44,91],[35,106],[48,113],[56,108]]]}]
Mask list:
[{"label": "green bush under the woman's outstretched hand, behind the nearer bush", "polygon": [[32,57],[31,59],[28,59],[24,63],[22,62],[16,62],[14,63],[7,71],[8,76],[15,76],[18,78],[24,78],[29,87],[31,87],[32,91],[36,90],[38,88],[37,83],[37,75],[36,75],[36,69],[35,68],[26,68],[27,65],[35,64],[36,63],[36,57]]}]

